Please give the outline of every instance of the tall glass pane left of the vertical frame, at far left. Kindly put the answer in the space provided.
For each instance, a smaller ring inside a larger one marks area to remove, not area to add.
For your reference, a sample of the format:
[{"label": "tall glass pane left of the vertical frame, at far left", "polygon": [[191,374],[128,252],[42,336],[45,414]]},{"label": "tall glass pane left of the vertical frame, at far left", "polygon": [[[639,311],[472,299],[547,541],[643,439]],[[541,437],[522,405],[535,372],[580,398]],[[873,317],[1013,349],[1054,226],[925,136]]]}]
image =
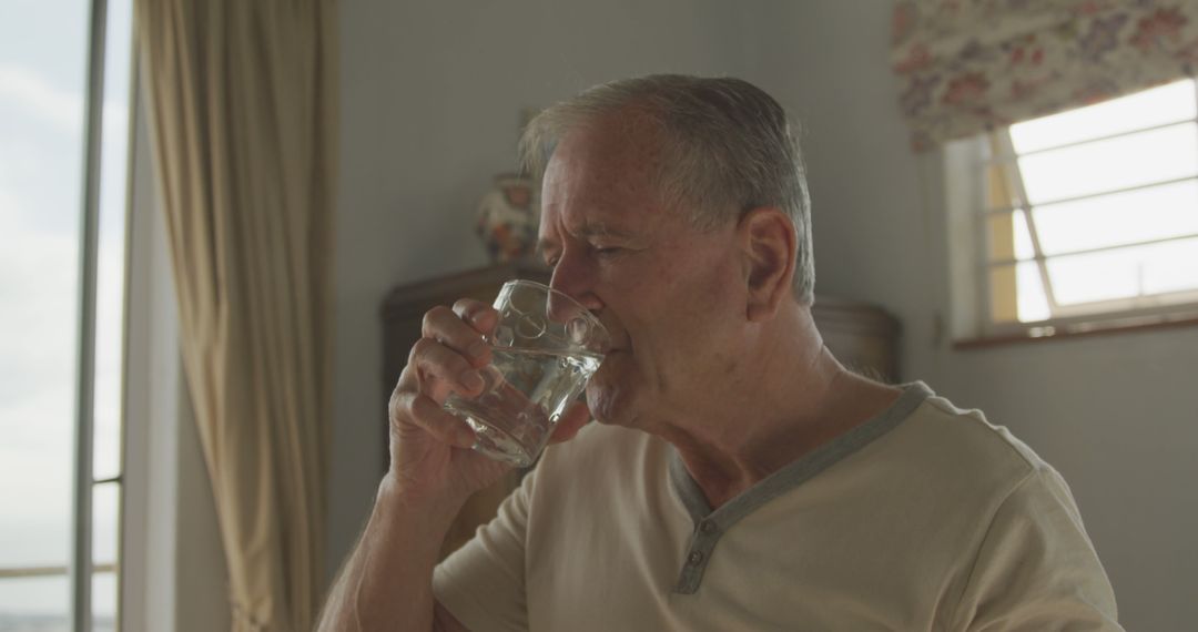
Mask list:
[{"label": "tall glass pane left of the vertical frame, at far left", "polygon": [[[0,566],[66,565],[89,2],[0,6]],[[65,612],[66,579],[0,579]]]}]

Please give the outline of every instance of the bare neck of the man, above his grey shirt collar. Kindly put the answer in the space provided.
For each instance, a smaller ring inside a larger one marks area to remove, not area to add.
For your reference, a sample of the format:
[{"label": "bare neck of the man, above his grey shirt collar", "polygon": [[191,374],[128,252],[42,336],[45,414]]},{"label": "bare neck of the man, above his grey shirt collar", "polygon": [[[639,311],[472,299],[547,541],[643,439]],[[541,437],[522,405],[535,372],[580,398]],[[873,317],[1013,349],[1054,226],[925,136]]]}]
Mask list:
[{"label": "bare neck of the man, above his grey shirt collar", "polygon": [[773,336],[749,356],[754,359],[742,371],[742,397],[710,402],[704,407],[709,414],[689,415],[659,432],[713,508],[873,418],[898,396],[897,389],[846,370],[823,346],[806,309],[797,321],[793,335]]}]

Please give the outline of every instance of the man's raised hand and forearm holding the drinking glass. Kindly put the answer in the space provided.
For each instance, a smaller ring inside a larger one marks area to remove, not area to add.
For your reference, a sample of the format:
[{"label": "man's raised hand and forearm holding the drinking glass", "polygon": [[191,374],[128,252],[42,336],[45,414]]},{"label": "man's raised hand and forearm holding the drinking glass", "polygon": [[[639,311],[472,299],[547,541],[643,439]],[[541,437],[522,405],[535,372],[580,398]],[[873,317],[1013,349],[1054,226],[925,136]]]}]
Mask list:
[{"label": "man's raised hand and forearm holding the drinking glass", "polygon": [[[432,596],[432,569],[461,504],[508,467],[471,450],[474,434],[441,405],[450,393],[482,394],[479,369],[491,361],[483,334],[498,314],[477,300],[434,308],[391,396],[391,469],[374,510],[329,591],[317,630],[465,630]],[[586,405],[563,415],[555,440],[589,419]]]}]

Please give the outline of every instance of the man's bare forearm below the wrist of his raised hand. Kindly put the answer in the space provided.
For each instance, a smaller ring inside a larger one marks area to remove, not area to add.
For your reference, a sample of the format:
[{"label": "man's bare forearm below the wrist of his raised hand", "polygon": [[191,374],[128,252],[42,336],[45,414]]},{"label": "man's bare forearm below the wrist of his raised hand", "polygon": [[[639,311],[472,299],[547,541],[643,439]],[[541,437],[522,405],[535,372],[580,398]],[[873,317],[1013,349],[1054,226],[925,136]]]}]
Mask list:
[{"label": "man's bare forearm below the wrist of his raised hand", "polygon": [[432,630],[432,567],[461,503],[413,499],[391,476],[329,591],[320,632]]}]

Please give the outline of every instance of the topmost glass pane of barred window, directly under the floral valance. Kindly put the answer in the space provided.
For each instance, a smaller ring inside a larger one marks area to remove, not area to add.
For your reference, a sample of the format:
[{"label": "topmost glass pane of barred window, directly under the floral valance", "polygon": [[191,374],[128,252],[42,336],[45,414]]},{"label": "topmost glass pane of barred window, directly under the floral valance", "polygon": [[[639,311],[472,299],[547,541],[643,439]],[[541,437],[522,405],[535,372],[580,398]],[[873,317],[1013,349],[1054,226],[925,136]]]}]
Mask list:
[{"label": "topmost glass pane of barred window, directly under the floral valance", "polygon": [[1194,83],[1182,79],[1096,105],[1011,126],[1015,151],[1027,153],[1193,118]]}]

